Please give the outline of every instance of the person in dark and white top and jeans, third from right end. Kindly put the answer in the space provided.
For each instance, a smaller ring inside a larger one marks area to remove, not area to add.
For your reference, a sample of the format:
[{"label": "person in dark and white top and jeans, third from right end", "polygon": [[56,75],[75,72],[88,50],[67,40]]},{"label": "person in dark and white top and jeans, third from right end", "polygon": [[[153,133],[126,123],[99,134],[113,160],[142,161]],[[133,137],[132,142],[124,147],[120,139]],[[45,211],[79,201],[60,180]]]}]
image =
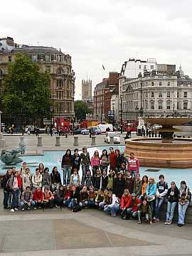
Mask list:
[{"label": "person in dark and white top and jeans, third from right end", "polygon": [[168,191],[168,185],[164,181],[164,175],[159,175],[159,182],[156,184],[156,206],[155,206],[155,215],[154,222],[159,221],[159,211],[161,209],[162,204],[166,199],[166,193]]}]

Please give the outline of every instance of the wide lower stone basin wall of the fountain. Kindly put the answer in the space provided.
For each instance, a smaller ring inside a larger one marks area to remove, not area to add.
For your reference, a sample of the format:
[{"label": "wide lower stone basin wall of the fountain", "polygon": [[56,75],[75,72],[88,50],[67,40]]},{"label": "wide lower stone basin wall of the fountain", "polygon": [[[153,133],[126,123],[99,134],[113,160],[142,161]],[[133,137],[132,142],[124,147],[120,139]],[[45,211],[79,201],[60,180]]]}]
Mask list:
[{"label": "wide lower stone basin wall of the fountain", "polygon": [[125,140],[124,155],[134,152],[141,166],[189,168],[192,167],[192,139],[178,138],[172,143],[161,138],[135,138]]}]

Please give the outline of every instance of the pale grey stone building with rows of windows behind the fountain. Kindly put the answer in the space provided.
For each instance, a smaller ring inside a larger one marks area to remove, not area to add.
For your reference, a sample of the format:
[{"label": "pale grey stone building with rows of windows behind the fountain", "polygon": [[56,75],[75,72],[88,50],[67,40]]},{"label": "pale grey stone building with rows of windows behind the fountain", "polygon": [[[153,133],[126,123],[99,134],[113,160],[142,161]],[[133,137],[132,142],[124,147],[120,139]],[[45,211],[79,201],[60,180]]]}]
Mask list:
[{"label": "pale grey stone building with rows of windows behind the fountain", "polygon": [[164,75],[152,71],[122,81],[120,119],[134,120],[137,114],[186,114],[192,107],[192,80],[188,76]]}]

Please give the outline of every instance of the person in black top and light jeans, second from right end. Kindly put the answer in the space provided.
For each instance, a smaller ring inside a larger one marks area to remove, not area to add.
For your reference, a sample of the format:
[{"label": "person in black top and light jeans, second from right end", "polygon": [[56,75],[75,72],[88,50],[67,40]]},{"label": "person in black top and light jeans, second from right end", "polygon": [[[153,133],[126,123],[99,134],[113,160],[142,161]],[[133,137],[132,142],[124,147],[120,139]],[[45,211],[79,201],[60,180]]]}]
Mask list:
[{"label": "person in black top and light jeans, second from right end", "polygon": [[166,198],[168,202],[166,207],[165,225],[171,225],[174,218],[174,211],[178,204],[178,188],[176,187],[176,183],[174,181],[171,181],[171,188],[168,189]]}]

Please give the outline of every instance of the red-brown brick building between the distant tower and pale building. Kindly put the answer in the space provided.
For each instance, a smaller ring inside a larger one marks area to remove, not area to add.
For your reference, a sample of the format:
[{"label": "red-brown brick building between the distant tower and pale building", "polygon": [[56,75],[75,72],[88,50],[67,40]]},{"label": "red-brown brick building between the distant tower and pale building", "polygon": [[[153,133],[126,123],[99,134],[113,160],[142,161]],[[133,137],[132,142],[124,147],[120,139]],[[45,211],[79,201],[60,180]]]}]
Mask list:
[{"label": "red-brown brick building between the distant tower and pale building", "polygon": [[119,73],[110,72],[109,78],[104,78],[102,82],[95,86],[94,90],[94,118],[100,122],[109,122],[112,117],[111,98],[119,91]]}]

